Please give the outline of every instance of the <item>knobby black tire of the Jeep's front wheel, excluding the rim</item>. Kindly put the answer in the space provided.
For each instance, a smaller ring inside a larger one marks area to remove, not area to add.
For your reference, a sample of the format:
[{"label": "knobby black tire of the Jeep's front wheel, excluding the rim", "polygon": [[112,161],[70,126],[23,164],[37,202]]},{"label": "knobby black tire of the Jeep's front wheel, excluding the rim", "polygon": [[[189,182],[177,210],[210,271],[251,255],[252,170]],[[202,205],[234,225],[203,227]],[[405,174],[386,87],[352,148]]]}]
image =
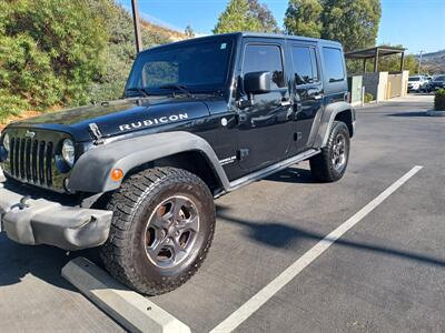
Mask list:
[{"label": "knobby black tire of the Jeep's front wheel, excluding the rim", "polygon": [[[156,266],[146,252],[146,228],[152,211],[169,195],[192,198],[199,212],[194,254],[174,270]],[[101,259],[111,275],[146,295],[172,291],[189,280],[204,262],[215,232],[215,204],[208,186],[197,175],[175,168],[155,168],[132,174],[108,202],[113,212],[110,235]]]}]

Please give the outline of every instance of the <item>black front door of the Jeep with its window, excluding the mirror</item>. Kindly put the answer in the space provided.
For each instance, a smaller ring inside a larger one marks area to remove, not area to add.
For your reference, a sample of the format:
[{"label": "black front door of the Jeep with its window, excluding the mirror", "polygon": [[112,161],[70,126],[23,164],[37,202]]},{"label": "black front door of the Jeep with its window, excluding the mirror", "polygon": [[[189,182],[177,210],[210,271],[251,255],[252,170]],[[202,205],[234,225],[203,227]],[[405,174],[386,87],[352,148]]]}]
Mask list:
[{"label": "black front door of the Jeep with its window, excluding the mirror", "polygon": [[[284,42],[245,41],[240,81],[246,73],[271,73],[270,92],[255,94],[253,105],[240,108],[238,131],[239,164],[260,169],[283,160],[293,141],[294,110],[285,74]],[[243,84],[239,84],[243,94]]]}]

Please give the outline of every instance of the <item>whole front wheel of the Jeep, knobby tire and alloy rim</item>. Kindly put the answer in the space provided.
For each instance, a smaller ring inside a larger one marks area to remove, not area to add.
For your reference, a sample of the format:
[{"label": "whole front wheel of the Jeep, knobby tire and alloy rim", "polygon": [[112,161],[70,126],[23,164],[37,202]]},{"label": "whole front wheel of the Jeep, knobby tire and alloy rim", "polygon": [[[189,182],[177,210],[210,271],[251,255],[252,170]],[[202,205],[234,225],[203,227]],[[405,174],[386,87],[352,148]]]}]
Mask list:
[{"label": "whole front wheel of the Jeep, knobby tire and alloy rim", "polygon": [[128,178],[112,195],[101,258],[117,280],[147,295],[169,292],[198,270],[215,231],[215,204],[195,174],[156,168]]}]

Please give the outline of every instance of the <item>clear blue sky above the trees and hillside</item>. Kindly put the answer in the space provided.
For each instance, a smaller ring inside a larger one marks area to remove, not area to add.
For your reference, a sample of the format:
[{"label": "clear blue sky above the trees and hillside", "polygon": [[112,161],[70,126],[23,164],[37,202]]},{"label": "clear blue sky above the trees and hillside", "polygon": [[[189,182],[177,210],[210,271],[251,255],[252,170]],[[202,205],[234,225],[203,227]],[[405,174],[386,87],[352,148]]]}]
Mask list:
[{"label": "clear blue sky above the trees and hillside", "polygon": [[[130,8],[131,0],[117,0]],[[154,23],[209,34],[227,0],[138,0],[141,16]],[[283,28],[288,0],[260,0]],[[445,0],[382,0],[377,44],[403,44],[408,53],[445,49]]]}]

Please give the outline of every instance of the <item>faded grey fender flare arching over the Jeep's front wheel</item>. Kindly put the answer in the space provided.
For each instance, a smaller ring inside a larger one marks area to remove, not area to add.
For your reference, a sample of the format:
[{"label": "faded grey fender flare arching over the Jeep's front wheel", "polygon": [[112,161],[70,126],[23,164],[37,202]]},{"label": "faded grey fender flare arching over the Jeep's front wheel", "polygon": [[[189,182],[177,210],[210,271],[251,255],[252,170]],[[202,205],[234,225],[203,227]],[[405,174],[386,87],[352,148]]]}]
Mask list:
[{"label": "faded grey fender flare arching over the Jeep's front wheel", "polygon": [[121,181],[111,180],[111,170],[120,169],[126,175],[145,163],[187,151],[202,153],[221,188],[229,188],[227,175],[210,144],[198,135],[182,131],[136,137],[95,147],[75,163],[68,188],[75,192],[112,191],[119,189]]}]

